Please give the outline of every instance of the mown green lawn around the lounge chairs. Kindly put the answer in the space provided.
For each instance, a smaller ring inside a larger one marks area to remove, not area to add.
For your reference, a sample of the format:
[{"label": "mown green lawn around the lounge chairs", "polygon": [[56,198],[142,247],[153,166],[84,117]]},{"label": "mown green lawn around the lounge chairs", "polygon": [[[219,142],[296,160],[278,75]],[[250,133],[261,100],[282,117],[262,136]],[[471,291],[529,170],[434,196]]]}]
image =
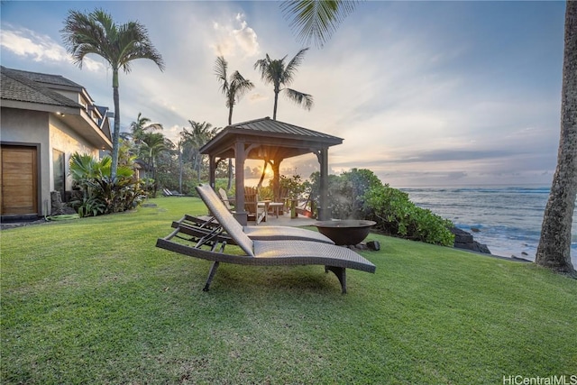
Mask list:
[{"label": "mown green lawn around the lounge chairs", "polygon": [[[577,374],[577,280],[371,234],[376,274],[154,247],[196,198],[4,230],[3,384],[502,384]],[[569,380],[569,377],[567,377]]]}]

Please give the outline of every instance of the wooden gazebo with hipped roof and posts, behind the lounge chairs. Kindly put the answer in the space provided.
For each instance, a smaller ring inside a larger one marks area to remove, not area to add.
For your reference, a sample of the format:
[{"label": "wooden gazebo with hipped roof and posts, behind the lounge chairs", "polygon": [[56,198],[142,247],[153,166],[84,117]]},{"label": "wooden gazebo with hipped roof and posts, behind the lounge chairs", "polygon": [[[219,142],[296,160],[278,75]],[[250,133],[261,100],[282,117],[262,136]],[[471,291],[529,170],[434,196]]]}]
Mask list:
[{"label": "wooden gazebo with hipped roof and posts, behind the lounge chairs", "polygon": [[247,224],[244,211],[244,161],[265,160],[273,170],[273,189],[279,193],[279,168],[282,160],[314,153],[320,163],[320,201],[318,219],[331,217],[328,207],[328,148],[343,143],[343,139],[318,133],[298,125],[272,120],[270,117],[224,127],[200,153],[209,157],[209,183],[215,188],[215,170],[222,160],[234,158],[236,170],[236,214],[242,225]]}]

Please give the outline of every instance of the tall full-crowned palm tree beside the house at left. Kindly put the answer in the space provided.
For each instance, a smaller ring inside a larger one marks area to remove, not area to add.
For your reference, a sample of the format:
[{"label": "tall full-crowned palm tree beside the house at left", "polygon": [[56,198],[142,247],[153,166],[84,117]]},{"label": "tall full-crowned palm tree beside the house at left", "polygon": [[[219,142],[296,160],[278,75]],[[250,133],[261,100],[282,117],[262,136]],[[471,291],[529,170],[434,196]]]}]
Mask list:
[{"label": "tall full-crowned palm tree beside the house at left", "polygon": [[150,59],[162,71],[164,61],[152,45],[144,25],[139,22],[116,25],[112,15],[102,9],[96,9],[90,14],[69,11],[64,28],[60,32],[64,45],[80,69],[83,60],[91,53],[104,58],[112,68],[114,132],[111,177],[115,178],[120,137],[118,70],[122,68],[125,73],[129,73],[132,60]]}]

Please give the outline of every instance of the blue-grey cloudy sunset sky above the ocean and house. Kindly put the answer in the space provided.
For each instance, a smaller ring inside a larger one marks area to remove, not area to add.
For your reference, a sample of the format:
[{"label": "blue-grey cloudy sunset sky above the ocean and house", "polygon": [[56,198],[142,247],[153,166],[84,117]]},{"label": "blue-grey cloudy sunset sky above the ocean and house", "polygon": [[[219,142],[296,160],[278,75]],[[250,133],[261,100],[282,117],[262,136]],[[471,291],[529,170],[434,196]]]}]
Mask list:
[{"label": "blue-grey cloudy sunset sky above the ocean and house", "polygon": [[[278,2],[5,0],[2,65],[69,78],[114,110],[106,62],[88,57],[79,69],[60,32],[69,10],[95,8],[118,24],[144,24],[166,65],[135,60],[121,73],[121,130],[142,113],[173,141],[188,120],[227,124],[217,56],[255,85],[234,107],[240,123],[272,116],[273,88],[256,60],[290,60],[304,48]],[[281,95],[277,119],[343,138],[329,150],[337,174],[370,169],[395,188],[550,186],[564,9],[558,1],[361,2],[322,49],[307,50],[290,85],[314,97],[311,111]],[[307,178],[318,163],[310,154],[280,169]]]}]

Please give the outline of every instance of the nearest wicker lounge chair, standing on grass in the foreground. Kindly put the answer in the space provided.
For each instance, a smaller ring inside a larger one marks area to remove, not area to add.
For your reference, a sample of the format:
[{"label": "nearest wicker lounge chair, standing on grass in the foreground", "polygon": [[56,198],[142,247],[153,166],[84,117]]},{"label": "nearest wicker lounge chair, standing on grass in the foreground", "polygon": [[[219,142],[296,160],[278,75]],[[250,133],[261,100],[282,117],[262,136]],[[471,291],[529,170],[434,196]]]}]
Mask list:
[{"label": "nearest wicker lounge chair, standing on grass in the foreground", "polygon": [[[211,210],[215,207],[209,206]],[[341,283],[343,294],[346,293],[346,269],[368,272],[376,270],[371,261],[341,246],[310,241],[252,241],[243,233],[242,227],[231,226],[218,211],[213,211],[215,218],[223,225],[223,230],[234,239],[245,253],[232,255],[224,253],[226,241],[220,237],[222,230],[215,229],[203,237],[183,236],[178,227],[165,238],[159,238],[156,246],[179,252],[191,257],[213,261],[203,290],[207,291],[215,277],[221,262],[255,266],[273,265],[324,265],[325,271],[331,270]]]}]

